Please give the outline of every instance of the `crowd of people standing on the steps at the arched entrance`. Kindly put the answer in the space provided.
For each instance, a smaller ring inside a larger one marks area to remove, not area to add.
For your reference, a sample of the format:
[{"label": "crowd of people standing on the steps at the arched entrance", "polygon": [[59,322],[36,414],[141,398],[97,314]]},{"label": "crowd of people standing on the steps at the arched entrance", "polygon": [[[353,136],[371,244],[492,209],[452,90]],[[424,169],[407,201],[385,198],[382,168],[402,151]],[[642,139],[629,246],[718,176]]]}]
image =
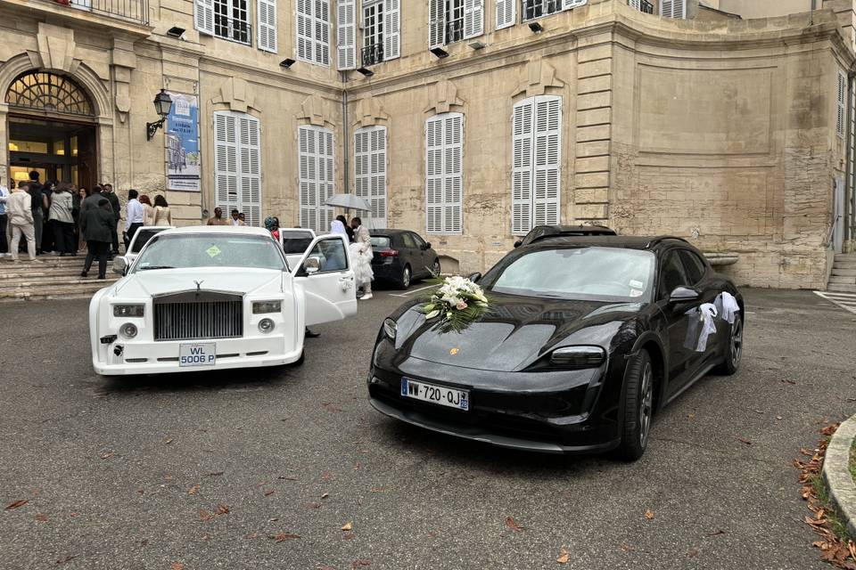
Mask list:
[{"label": "crowd of people standing on the steps at the arched entrance", "polygon": [[[125,247],[143,225],[172,225],[169,205],[158,195],[152,204],[148,196],[128,191],[128,215],[123,238]],[[107,261],[119,254],[121,205],[110,183],[95,185],[92,191],[66,182],[39,182],[37,171],[10,191],[0,181],[0,257],[19,261],[21,240],[26,242],[31,261],[37,256],[77,256],[86,249],[80,273],[86,277],[95,257],[98,278],[106,278]]]}]

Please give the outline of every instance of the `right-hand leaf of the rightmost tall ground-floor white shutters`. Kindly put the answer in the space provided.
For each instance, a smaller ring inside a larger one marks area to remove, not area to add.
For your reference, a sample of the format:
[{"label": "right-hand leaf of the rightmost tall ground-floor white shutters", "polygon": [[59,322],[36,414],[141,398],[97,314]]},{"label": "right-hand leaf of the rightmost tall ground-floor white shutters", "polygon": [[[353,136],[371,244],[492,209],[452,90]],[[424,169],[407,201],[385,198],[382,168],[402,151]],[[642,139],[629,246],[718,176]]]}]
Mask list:
[{"label": "right-hand leaf of the rightmost tall ground-floor white shutters", "polygon": [[562,98],[535,98],[533,216],[534,225],[559,224],[562,162]]}]

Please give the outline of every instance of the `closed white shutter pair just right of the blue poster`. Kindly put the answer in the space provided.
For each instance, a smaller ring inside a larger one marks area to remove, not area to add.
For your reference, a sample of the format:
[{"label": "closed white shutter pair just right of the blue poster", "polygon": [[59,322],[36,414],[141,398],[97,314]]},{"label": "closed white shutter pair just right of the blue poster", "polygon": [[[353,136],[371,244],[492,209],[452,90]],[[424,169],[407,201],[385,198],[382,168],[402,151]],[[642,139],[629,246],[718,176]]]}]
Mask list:
[{"label": "closed white shutter pair just right of the blue poster", "polygon": [[243,212],[261,224],[261,133],[259,119],[236,111],[214,113],[214,185],[218,208]]}]

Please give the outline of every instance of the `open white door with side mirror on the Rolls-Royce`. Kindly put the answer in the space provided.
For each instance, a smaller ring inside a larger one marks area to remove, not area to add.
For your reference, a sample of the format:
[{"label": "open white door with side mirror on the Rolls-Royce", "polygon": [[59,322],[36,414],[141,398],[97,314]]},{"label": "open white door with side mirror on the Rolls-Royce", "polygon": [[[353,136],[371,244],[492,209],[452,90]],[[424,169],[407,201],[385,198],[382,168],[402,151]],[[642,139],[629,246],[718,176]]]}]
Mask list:
[{"label": "open white door with side mirror on the Rolls-Royce", "polygon": [[357,314],[357,288],[350,267],[348,242],[342,235],[325,235],[312,240],[294,282],[306,296],[306,326],[342,321]]}]

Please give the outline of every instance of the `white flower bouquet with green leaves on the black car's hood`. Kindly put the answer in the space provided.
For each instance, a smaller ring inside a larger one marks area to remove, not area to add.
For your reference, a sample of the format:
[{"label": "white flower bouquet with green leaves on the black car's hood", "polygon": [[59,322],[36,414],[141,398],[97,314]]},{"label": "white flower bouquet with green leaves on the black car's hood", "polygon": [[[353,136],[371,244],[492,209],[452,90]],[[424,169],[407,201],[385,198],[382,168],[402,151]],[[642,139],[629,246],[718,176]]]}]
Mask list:
[{"label": "white flower bouquet with green leaves on the black car's hood", "polygon": [[422,306],[416,309],[425,321],[438,319],[441,332],[460,332],[471,322],[490,312],[490,302],[484,291],[470,281],[454,275],[443,280]]}]

